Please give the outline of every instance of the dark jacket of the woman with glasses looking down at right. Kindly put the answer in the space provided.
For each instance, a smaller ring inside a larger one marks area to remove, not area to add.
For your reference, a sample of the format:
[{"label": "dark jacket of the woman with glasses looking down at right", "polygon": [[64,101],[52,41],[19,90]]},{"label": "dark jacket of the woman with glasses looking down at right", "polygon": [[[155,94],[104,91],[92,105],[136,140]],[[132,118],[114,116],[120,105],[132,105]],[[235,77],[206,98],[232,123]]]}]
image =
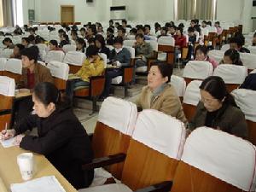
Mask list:
[{"label": "dark jacket of the woman with glasses looking down at right", "polygon": [[[195,117],[189,123],[189,129],[195,130],[196,127],[206,125],[207,108],[199,102],[196,108]],[[231,105],[224,105],[218,110],[212,120],[212,128],[220,129],[237,137],[247,138],[247,122],[244,114],[239,108]]]}]

